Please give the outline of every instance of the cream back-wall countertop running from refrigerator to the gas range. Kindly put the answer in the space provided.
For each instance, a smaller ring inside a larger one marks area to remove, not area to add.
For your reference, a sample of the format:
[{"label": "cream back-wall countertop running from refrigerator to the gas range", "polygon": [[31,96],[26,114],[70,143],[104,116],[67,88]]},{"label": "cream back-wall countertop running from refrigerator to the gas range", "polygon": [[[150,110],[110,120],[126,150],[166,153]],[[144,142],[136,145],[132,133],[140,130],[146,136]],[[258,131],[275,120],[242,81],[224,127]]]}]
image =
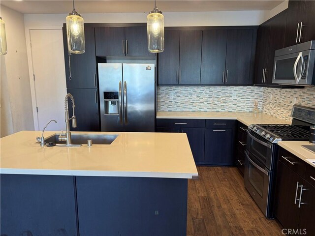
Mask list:
[{"label": "cream back-wall countertop running from refrigerator to the gas range", "polygon": [[237,119],[250,124],[291,124],[291,121],[276,118],[264,113],[250,112],[158,112],[157,118],[168,119]]}]

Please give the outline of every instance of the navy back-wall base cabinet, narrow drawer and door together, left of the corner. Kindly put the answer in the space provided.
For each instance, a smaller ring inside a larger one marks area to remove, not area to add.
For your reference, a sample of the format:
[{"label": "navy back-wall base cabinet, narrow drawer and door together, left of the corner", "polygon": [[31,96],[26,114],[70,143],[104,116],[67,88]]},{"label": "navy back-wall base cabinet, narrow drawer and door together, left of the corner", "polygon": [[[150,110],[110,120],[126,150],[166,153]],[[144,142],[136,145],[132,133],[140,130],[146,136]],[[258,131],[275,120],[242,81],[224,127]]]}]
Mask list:
[{"label": "navy back-wall base cabinet, narrow drawer and door together, left of the corner", "polygon": [[235,140],[235,122],[232,119],[206,120],[205,165],[232,166]]}]

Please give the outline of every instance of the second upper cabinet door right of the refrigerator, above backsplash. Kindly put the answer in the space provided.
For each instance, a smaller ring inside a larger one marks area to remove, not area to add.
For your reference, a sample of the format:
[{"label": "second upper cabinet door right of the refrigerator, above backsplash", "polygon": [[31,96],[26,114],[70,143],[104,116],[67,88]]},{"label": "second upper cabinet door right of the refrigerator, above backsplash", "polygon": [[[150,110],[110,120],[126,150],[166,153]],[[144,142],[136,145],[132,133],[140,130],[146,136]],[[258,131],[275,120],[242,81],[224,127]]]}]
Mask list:
[{"label": "second upper cabinet door right of the refrigerator, above backsplash", "polygon": [[181,30],[179,84],[200,84],[202,30]]}]

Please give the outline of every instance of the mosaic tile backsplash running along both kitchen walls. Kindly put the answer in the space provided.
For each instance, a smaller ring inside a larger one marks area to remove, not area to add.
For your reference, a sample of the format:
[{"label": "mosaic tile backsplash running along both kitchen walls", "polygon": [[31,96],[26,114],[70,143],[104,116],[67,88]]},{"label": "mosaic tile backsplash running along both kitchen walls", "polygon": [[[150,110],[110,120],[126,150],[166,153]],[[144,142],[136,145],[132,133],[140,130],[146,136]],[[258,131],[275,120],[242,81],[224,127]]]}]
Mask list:
[{"label": "mosaic tile backsplash running along both kitchen walls", "polygon": [[294,103],[315,107],[315,87],[158,87],[158,111],[252,112],[254,100],[259,112],[290,120]]}]

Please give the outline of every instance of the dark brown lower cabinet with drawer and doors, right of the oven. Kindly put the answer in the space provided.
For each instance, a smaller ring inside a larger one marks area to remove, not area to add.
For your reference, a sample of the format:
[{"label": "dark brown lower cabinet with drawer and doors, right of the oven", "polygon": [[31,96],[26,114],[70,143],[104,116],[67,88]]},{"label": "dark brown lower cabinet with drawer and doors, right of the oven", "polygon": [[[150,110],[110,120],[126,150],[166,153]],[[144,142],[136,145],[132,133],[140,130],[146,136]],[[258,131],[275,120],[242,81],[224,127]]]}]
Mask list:
[{"label": "dark brown lower cabinet with drawer and doors, right of the oven", "polygon": [[284,229],[297,230],[303,235],[315,235],[315,180],[313,178],[315,178],[315,167],[280,148],[275,216]]}]

